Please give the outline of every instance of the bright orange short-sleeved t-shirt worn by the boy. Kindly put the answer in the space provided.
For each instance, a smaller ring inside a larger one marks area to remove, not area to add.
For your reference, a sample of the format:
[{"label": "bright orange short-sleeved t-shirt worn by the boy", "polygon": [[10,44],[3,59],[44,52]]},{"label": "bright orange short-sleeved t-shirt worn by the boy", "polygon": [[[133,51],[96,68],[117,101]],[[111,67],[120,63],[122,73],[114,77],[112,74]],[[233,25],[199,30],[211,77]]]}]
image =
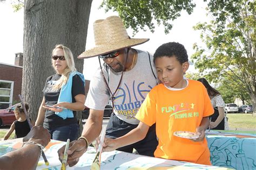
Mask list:
[{"label": "bright orange short-sleeved t-shirt worn by the boy", "polygon": [[206,139],[195,142],[176,137],[173,132],[196,132],[202,118],[213,112],[204,85],[188,80],[188,86],[182,90],[170,90],[163,84],[154,87],[147,94],[136,118],[150,126],[156,123],[159,144],[155,157],[211,165]]}]

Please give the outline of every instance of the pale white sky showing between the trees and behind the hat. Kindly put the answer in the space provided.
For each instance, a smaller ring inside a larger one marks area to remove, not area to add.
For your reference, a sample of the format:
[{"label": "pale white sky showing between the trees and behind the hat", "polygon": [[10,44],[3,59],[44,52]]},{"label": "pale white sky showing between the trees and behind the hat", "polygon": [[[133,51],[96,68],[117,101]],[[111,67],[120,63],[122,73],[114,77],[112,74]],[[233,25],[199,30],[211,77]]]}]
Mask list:
[{"label": "pale white sky showing between the trees and behind the hat", "polygon": [[[0,62],[14,65],[15,53],[23,52],[23,9],[14,12],[11,4],[0,2]],[[93,0],[91,6],[91,13],[89,19],[89,26],[87,31],[86,47],[90,49],[95,46],[93,37],[93,22],[97,19],[105,19],[118,13],[110,11],[105,13],[104,9],[98,9],[102,1]],[[142,49],[150,53],[154,53],[157,47],[166,42],[179,42],[183,44],[187,50],[188,58],[194,53],[192,48],[193,44],[197,42],[201,44],[200,31],[194,31],[193,26],[199,22],[207,22],[209,18],[206,17],[205,11],[206,3],[197,3],[194,12],[188,15],[186,11],[181,12],[181,16],[173,21],[173,28],[169,34],[164,33],[163,26],[157,26],[154,33],[140,30],[135,36],[132,37],[132,29],[127,29],[127,33],[132,38],[150,38],[149,41],[142,45],[135,46],[134,48]],[[98,68],[98,59],[90,58],[84,59],[84,76],[86,80],[90,80],[93,73]],[[190,66],[189,72],[197,72],[194,66]]]}]

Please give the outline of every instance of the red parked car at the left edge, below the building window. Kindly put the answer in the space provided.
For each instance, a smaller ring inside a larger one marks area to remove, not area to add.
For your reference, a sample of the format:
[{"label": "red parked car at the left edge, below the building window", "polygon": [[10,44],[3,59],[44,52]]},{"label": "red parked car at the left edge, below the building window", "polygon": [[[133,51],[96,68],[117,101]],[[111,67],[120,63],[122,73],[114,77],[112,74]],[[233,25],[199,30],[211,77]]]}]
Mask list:
[{"label": "red parked car at the left edge, below the building window", "polygon": [[11,125],[12,122],[16,121],[14,115],[14,109],[21,103],[12,105],[11,107],[0,110],[0,126]]}]

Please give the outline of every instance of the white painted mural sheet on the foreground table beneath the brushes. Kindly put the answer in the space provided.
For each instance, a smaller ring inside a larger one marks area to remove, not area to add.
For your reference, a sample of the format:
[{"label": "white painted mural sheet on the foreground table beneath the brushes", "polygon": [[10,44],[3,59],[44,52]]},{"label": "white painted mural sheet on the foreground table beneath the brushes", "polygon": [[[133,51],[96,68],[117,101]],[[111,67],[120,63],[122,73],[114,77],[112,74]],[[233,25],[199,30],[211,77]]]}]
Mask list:
[{"label": "white painted mural sheet on the foreground table beneath the brushes", "polygon": [[[58,160],[58,149],[65,143],[62,141],[51,140],[46,146],[44,153],[50,163],[49,166],[44,164],[43,158],[38,161],[36,169],[60,169],[61,163]],[[16,150],[21,147],[21,142],[16,143],[0,143],[0,156]],[[93,159],[95,158],[95,148],[89,147],[87,152],[79,159],[74,167],[67,169],[90,169]],[[146,157],[138,154],[131,154],[120,151],[103,152],[101,156],[101,169],[227,169],[216,166],[206,166],[199,164],[191,164],[183,161],[165,160],[153,157]]]}]

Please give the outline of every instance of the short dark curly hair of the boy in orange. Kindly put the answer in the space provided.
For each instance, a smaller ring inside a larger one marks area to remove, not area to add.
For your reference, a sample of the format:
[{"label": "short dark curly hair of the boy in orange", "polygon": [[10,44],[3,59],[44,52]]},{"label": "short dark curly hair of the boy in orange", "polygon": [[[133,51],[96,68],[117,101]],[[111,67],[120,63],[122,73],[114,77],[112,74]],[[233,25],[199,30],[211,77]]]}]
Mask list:
[{"label": "short dark curly hair of the boy in orange", "polygon": [[156,63],[157,58],[161,58],[163,56],[175,56],[181,64],[188,61],[185,47],[178,42],[168,42],[159,46],[153,56],[154,63]]}]

